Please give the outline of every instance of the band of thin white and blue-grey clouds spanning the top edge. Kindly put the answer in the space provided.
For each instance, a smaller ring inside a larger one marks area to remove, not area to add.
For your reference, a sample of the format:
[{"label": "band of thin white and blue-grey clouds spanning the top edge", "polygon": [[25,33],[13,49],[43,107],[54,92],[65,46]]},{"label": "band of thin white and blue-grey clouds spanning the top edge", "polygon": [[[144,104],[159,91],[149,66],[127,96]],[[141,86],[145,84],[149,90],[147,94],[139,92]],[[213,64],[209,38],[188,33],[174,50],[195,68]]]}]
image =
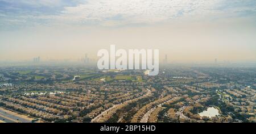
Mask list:
[{"label": "band of thin white and blue-grey clouds spanning the top edge", "polygon": [[[255,18],[254,0],[0,0],[0,22],[12,25],[78,24],[131,26],[172,20]],[[0,6],[1,7],[1,6]],[[15,20],[15,21],[13,21]],[[4,25],[4,24],[2,24]],[[8,25],[8,24],[6,24]]]}]

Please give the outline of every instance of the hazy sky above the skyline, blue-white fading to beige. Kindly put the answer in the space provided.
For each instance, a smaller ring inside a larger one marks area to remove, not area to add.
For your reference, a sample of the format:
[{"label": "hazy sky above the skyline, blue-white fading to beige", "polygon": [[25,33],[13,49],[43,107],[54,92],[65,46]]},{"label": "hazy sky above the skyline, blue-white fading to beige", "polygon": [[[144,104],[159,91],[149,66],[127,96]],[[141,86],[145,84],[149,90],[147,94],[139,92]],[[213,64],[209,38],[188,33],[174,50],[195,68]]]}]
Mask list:
[{"label": "hazy sky above the skyline, blue-white fading to beige", "polygon": [[0,0],[0,61],[159,49],[170,62],[256,61],[254,0]]}]

